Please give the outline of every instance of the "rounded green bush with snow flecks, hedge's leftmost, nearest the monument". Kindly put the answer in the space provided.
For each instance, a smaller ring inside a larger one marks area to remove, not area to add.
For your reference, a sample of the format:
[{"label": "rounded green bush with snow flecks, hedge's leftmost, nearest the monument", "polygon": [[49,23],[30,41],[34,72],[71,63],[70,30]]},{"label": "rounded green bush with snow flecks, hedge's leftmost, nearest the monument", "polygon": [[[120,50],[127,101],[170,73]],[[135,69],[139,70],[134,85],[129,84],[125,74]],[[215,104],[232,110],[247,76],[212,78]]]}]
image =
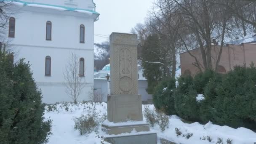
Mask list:
[{"label": "rounded green bush with snow flecks, hedge's leftmost, nearest the monument", "polygon": [[176,115],[173,95],[175,88],[175,79],[164,80],[157,85],[153,94],[156,109],[161,109],[168,115]]}]

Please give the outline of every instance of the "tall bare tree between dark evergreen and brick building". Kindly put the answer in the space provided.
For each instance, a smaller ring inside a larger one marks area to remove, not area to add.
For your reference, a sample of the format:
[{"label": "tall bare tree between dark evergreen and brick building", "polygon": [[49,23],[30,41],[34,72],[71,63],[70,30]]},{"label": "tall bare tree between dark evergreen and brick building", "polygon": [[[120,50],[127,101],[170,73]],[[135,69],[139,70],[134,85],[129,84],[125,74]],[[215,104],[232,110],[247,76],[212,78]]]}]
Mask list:
[{"label": "tall bare tree between dark evergreen and brick building", "polygon": [[[176,54],[179,53],[181,48],[180,38],[177,34],[181,29],[181,17],[176,15],[175,3],[170,0],[156,0],[155,7],[150,12],[152,17],[149,27],[154,29],[162,39],[164,43],[165,59],[171,64],[168,68],[171,69],[171,77],[175,77],[176,73]],[[168,71],[167,71],[168,72]],[[169,73],[169,72],[168,72]],[[168,74],[167,73],[167,74]]]}]

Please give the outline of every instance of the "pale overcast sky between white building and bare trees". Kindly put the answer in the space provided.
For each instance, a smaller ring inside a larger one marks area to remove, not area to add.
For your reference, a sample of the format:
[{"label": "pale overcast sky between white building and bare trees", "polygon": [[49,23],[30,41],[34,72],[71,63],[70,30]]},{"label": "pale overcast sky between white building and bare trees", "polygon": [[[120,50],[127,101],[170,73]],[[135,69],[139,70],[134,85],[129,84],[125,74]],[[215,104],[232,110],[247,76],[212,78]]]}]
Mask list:
[{"label": "pale overcast sky between white building and bare trees", "polygon": [[[93,0],[99,21],[94,23],[94,43],[108,41],[112,32],[130,33],[137,23],[144,23],[153,0]],[[100,37],[102,36],[102,37]]]}]

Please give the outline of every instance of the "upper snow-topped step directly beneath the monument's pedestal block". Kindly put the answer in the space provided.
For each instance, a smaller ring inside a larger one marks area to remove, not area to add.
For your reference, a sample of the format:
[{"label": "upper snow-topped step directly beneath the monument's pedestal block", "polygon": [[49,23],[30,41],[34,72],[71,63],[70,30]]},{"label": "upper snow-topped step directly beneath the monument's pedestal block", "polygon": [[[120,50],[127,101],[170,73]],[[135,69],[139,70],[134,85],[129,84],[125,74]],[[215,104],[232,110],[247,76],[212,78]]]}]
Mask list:
[{"label": "upper snow-topped step directly beneath the monument's pedestal block", "polygon": [[[125,123],[124,123],[125,124]],[[134,123],[130,125],[124,124],[104,124],[102,125],[102,130],[105,131],[107,134],[121,134],[121,133],[131,133],[132,131],[149,131],[149,124],[148,123]]]}]

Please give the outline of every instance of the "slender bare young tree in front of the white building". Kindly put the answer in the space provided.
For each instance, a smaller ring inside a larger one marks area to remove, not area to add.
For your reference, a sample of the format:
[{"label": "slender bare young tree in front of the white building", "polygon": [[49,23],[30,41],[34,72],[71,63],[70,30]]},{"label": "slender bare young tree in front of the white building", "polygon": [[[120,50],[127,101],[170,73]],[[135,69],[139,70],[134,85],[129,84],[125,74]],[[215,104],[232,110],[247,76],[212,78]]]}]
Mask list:
[{"label": "slender bare young tree in front of the white building", "polygon": [[75,52],[70,53],[67,66],[64,71],[66,93],[77,103],[83,88],[85,87],[85,78],[80,76],[80,61]]}]

